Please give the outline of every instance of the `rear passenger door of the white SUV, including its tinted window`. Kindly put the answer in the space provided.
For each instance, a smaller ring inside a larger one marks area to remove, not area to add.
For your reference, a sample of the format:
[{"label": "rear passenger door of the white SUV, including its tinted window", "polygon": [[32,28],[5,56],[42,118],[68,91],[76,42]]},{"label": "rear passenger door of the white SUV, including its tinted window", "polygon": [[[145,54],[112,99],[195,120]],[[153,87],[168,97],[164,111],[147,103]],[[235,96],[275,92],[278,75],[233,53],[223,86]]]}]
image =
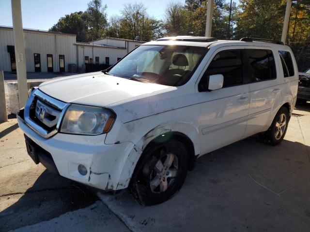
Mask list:
[{"label": "rear passenger door of the white SUV, including its tinted window", "polygon": [[[246,47],[250,105],[246,136],[266,131],[281,105],[281,82],[275,55],[268,47]],[[277,67],[277,68],[276,68]]]}]

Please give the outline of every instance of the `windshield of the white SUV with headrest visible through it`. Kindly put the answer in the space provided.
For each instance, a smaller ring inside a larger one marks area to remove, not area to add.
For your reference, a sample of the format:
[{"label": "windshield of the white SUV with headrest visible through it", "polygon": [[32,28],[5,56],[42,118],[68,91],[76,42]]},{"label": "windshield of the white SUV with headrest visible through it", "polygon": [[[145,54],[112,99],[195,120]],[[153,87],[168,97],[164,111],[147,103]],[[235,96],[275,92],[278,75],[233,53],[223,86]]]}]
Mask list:
[{"label": "windshield of the white SUV with headrest visible through it", "polygon": [[109,75],[146,83],[182,86],[195,72],[205,47],[142,45],[109,70]]}]

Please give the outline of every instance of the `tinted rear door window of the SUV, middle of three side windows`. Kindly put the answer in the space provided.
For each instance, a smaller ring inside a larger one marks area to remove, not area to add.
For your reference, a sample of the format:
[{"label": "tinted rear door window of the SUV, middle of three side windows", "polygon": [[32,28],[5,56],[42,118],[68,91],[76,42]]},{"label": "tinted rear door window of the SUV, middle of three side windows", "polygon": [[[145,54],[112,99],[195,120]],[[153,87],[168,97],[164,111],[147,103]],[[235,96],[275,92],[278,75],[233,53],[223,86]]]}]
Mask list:
[{"label": "tinted rear door window of the SUV, middle of three side windows", "polygon": [[251,82],[276,78],[274,57],[270,50],[247,49],[247,56]]}]

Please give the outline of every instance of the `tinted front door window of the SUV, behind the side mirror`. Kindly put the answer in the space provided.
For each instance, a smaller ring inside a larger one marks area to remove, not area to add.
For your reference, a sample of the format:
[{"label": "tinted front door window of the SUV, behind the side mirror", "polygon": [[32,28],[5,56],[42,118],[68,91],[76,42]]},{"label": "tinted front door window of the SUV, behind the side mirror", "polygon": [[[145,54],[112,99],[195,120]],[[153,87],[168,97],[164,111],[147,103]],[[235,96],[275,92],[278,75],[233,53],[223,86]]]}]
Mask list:
[{"label": "tinted front door window of the SUV, behind the side mirror", "polygon": [[217,53],[203,74],[204,78],[210,75],[222,74],[223,87],[230,87],[243,83],[243,69],[241,50],[227,50]]}]

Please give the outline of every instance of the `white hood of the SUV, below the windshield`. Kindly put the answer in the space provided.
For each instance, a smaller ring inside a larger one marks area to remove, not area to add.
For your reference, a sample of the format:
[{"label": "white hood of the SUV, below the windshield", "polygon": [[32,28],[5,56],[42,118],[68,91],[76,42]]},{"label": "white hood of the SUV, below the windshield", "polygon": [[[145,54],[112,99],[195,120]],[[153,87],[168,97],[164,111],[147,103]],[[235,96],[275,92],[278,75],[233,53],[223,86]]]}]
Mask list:
[{"label": "white hood of the SUV, below the windshield", "polygon": [[93,106],[107,106],[141,95],[153,95],[171,88],[152,83],[143,83],[104,73],[86,73],[47,81],[39,89],[63,102]]}]

